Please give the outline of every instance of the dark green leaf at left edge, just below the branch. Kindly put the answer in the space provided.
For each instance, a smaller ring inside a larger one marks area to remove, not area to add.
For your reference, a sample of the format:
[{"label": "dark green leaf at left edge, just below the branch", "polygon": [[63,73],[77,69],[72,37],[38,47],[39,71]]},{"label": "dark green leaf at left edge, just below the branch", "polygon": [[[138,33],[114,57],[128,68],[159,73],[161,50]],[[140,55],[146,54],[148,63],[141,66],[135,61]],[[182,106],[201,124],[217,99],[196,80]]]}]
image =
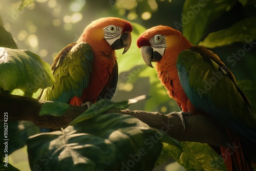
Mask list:
[{"label": "dark green leaf at left edge, just below the branch", "polygon": [[[3,133],[1,144],[7,142],[9,155],[16,151],[16,149],[22,148],[29,136],[40,133],[39,127],[30,121],[7,121],[0,123],[0,125],[0,131]],[[6,134],[4,134],[4,130],[7,130]],[[0,149],[0,156],[2,158],[5,155],[5,145],[1,145]]]}]

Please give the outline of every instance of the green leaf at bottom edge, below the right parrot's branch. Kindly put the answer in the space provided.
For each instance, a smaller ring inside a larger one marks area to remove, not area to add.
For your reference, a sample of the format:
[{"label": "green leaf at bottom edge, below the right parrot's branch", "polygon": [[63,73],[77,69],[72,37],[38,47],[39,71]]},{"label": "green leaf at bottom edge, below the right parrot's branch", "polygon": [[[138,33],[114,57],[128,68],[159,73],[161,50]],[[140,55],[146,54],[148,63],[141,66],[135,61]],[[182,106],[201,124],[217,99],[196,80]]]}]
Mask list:
[{"label": "green leaf at bottom edge, below the right parrot's branch", "polygon": [[209,145],[199,142],[164,143],[158,161],[172,157],[186,170],[226,170],[224,161]]}]

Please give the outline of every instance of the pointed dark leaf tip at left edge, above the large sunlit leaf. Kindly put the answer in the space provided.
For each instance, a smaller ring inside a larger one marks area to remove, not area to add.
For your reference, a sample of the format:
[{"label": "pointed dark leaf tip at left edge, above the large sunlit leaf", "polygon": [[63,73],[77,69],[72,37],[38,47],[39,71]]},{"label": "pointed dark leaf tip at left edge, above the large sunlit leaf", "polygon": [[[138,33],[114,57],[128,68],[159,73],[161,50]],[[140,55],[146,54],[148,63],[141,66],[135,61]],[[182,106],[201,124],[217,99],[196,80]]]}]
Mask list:
[{"label": "pointed dark leaf tip at left edge, above the large sunlit leaf", "polygon": [[18,49],[11,33],[5,30],[3,20],[0,16],[0,47]]}]

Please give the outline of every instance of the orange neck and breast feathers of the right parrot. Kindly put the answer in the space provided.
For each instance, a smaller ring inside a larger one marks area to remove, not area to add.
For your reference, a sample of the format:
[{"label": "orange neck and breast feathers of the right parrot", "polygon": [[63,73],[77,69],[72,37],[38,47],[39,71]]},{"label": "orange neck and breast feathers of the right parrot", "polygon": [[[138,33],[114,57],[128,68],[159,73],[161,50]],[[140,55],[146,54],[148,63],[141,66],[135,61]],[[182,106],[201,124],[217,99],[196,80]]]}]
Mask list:
[{"label": "orange neck and breast feathers of the right parrot", "polygon": [[183,88],[181,87],[178,71],[176,68],[177,58],[181,51],[190,48],[192,45],[185,41],[177,42],[178,38],[172,35],[166,37],[167,47],[162,59],[156,62],[158,78],[164,85],[170,98],[173,98],[183,112],[195,111],[194,105],[190,102]]}]

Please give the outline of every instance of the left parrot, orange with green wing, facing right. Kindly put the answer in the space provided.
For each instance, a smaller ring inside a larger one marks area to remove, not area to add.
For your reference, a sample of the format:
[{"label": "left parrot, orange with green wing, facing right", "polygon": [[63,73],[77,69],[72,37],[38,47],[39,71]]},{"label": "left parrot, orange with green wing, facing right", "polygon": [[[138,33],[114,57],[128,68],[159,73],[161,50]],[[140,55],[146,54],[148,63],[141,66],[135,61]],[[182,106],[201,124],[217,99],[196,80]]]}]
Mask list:
[{"label": "left parrot, orange with green wing, facing right", "polygon": [[124,48],[123,54],[129,50],[132,30],[130,22],[117,17],[92,22],[54,58],[54,85],[42,90],[38,98],[76,106],[111,99],[118,80],[115,50]]}]

